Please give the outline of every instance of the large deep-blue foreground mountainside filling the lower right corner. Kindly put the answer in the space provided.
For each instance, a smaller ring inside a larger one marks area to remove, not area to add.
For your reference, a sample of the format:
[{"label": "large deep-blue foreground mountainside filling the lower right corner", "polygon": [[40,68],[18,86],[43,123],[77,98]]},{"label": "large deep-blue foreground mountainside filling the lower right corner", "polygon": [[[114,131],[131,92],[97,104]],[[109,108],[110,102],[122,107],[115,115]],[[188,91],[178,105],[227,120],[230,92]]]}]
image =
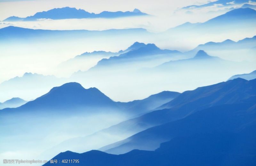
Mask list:
[{"label": "large deep-blue foreground mountainside filling the lower right corner", "polygon": [[255,165],[255,81],[237,78],[182,93],[166,109],[133,119],[155,127],[104,147],[112,154],[67,151],[52,159],[59,165],[63,158],[79,159],[78,165]]}]

